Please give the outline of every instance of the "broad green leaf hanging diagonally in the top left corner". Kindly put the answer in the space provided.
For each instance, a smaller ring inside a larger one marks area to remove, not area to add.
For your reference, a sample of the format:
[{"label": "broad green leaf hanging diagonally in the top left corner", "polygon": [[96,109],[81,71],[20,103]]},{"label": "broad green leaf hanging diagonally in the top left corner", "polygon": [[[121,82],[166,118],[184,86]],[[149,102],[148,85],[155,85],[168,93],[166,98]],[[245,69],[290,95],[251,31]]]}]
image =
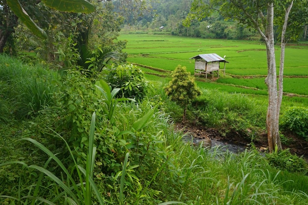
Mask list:
[{"label": "broad green leaf hanging diagonally in the top left corner", "polygon": [[7,4],[15,15],[31,30],[31,32],[40,38],[48,38],[46,32],[39,28],[24,10],[19,0],[7,0]]}]

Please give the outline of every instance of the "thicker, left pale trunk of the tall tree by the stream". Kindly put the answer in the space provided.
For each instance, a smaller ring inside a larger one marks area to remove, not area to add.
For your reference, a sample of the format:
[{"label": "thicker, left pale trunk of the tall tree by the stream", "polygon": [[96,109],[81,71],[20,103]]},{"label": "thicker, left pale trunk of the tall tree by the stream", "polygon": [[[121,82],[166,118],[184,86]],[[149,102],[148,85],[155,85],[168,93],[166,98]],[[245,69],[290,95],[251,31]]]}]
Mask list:
[{"label": "thicker, left pale trunk of the tall tree by the stream", "polygon": [[276,74],[276,60],[275,60],[275,44],[274,44],[274,4],[269,3],[267,9],[267,27],[265,33],[265,43],[267,47],[267,63],[268,75],[265,83],[269,93],[269,105],[266,116],[266,127],[268,135],[269,151],[272,152],[277,146],[281,149],[281,142],[279,138],[279,127],[277,119],[277,104],[278,104],[278,88],[277,88],[277,74]]}]

